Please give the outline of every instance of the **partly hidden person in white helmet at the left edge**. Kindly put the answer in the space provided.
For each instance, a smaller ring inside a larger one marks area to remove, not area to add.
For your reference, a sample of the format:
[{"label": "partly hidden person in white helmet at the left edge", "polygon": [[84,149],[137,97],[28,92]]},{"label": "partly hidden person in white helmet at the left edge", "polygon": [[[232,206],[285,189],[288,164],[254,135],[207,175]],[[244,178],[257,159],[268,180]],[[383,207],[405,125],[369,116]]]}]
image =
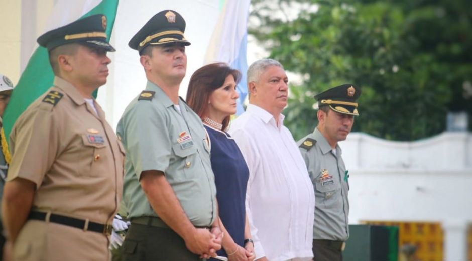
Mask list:
[{"label": "partly hidden person in white helmet at the left edge", "polygon": [[[5,109],[7,108],[8,102],[10,101],[10,96],[12,95],[13,91],[13,83],[7,76],[0,74],[0,128],[3,126],[3,116]],[[2,140],[5,140],[4,134],[1,134]],[[8,171],[8,163],[5,159],[5,154],[3,152],[4,148],[2,143],[0,143],[0,201],[2,200],[2,195],[4,191],[5,181],[7,179],[7,171]],[[7,147],[5,149],[8,149]],[[2,218],[0,211],[0,220]],[[0,223],[0,258],[3,256],[3,247],[5,244],[5,236],[4,236],[4,229],[2,224]]]}]

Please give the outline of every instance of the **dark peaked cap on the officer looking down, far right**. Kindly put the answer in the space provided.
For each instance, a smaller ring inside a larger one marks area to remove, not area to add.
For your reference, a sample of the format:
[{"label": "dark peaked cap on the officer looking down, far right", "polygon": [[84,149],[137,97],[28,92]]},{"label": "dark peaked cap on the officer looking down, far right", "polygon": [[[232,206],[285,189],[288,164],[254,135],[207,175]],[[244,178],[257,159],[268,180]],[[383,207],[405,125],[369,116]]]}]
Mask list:
[{"label": "dark peaked cap on the officer looking down, far right", "polygon": [[330,109],[348,115],[359,116],[356,100],[361,96],[361,89],[353,84],[343,84],[314,96],[318,107],[329,106]]}]

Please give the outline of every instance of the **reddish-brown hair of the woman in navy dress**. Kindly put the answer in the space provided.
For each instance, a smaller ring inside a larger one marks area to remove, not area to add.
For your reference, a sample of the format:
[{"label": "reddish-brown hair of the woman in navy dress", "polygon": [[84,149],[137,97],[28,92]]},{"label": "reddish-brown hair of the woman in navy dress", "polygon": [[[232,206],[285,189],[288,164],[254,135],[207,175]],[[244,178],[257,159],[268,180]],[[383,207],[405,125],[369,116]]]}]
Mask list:
[{"label": "reddish-brown hair of the woman in navy dress", "polygon": [[[208,109],[208,100],[211,94],[220,88],[226,77],[232,75],[234,82],[241,81],[242,74],[232,69],[226,63],[211,63],[196,70],[188,83],[187,98],[188,105],[203,119]],[[223,120],[223,128],[229,125],[229,116]]]}]

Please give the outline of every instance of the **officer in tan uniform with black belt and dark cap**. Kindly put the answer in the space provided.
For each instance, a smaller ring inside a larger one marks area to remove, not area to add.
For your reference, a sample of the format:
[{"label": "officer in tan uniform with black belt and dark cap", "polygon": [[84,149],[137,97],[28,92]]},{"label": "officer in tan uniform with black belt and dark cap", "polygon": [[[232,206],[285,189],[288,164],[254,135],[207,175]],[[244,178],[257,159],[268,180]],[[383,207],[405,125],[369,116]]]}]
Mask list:
[{"label": "officer in tan uniform with black belt and dark cap", "polygon": [[15,122],[3,199],[15,260],[109,260],[122,195],[124,150],[92,93],[106,83],[106,17],[38,38],[53,87]]}]

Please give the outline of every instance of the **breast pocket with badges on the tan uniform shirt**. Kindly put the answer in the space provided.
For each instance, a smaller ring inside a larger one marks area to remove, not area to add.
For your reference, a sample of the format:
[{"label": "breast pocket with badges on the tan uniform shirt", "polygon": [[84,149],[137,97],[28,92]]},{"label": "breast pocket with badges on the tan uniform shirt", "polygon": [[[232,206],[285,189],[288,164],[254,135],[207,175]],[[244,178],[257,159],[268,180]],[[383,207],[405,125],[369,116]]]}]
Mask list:
[{"label": "breast pocket with badges on the tan uniform shirt", "polygon": [[79,175],[90,177],[104,175],[111,167],[108,166],[108,148],[104,138],[100,135],[83,135],[82,141],[85,149],[83,155],[77,157],[80,162]]}]

